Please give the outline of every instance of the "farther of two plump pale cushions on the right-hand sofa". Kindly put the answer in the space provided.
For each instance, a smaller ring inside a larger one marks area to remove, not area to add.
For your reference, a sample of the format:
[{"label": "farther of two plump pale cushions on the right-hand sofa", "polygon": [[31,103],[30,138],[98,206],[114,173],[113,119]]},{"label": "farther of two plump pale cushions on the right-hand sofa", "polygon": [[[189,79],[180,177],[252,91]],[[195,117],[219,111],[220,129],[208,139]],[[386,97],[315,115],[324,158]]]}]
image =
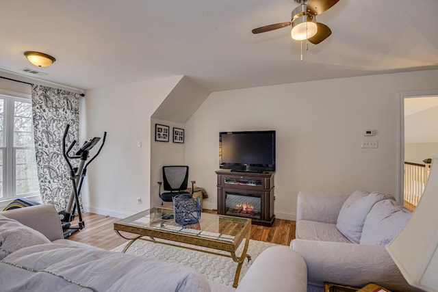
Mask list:
[{"label": "farther of two plump pale cushions on the right-hand sofa", "polygon": [[336,224],[337,229],[352,243],[359,243],[361,241],[363,223],[368,213],[370,213],[376,202],[387,198],[394,199],[394,196],[376,191],[371,194],[368,191],[353,192],[339,211]]}]

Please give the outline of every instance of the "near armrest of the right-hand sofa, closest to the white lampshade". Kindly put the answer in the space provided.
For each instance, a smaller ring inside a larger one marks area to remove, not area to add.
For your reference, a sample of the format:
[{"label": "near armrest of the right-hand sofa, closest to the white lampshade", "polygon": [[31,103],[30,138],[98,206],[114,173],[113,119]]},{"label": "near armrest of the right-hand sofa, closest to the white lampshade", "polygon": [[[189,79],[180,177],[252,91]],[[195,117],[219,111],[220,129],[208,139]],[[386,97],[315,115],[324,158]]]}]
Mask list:
[{"label": "near armrest of the right-hand sofa, closest to the white lampshade", "polygon": [[363,287],[370,282],[390,291],[420,291],[409,286],[384,245],[294,239],[292,249],[305,259],[309,285],[324,282]]}]

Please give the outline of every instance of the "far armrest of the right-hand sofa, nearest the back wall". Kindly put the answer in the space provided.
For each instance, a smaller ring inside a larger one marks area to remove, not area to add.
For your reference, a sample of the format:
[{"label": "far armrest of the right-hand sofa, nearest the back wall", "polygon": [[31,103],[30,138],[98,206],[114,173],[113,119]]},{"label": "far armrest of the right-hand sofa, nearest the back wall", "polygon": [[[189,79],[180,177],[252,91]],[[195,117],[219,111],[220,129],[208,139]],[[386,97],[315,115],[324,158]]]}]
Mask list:
[{"label": "far armrest of the right-hand sofa, nearest the back wall", "polygon": [[336,224],[339,210],[350,194],[299,191],[296,201],[296,220]]}]

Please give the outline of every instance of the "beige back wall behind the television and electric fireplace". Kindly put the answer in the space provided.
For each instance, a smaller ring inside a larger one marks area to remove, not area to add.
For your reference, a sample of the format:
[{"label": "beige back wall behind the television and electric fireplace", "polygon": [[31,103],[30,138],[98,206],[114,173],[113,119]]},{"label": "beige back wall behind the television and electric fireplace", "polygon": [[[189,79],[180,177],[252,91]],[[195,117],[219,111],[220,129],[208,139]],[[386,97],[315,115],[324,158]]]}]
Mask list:
[{"label": "beige back wall behind the television and electric fireplace", "polygon": [[[276,130],[276,217],[294,220],[299,190],[398,191],[399,92],[436,87],[438,70],[213,92],[185,125],[186,161],[217,208],[218,133]],[[364,137],[365,129],[376,130]],[[378,140],[362,149],[362,140]]]}]

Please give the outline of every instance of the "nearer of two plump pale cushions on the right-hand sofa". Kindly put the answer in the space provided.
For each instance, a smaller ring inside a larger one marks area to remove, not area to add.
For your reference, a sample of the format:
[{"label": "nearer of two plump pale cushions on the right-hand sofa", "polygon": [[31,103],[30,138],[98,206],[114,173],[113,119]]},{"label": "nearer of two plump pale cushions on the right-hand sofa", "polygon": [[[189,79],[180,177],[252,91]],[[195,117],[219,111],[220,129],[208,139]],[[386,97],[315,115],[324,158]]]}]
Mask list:
[{"label": "nearer of two plump pale cushions on the right-hand sofa", "polygon": [[363,223],[360,243],[386,245],[402,230],[411,214],[396,200],[376,202]]}]

